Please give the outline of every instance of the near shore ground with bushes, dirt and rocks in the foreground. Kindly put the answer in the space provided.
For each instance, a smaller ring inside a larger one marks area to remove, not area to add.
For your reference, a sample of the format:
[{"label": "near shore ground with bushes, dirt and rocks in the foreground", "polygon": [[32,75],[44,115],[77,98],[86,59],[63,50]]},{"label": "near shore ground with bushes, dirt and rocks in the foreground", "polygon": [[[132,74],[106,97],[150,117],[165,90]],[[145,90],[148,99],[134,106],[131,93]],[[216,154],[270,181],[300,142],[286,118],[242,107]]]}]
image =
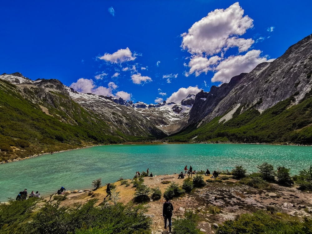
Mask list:
[{"label": "near shore ground with bushes, dirt and rocks in the foreground", "polygon": [[0,232],[165,234],[162,206],[168,197],[172,233],[312,233],[312,165],[293,177],[283,166],[257,168],[246,174],[237,165],[217,178],[142,172],[111,183],[108,201],[98,178],[90,183],[93,190],[2,203]]}]

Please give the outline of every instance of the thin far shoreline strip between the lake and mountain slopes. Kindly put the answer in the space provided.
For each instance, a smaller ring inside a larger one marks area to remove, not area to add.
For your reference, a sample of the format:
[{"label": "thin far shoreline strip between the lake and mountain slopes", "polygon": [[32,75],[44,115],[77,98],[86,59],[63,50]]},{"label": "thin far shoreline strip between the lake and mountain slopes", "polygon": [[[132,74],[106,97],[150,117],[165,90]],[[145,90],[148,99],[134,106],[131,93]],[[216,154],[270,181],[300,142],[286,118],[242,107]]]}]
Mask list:
[{"label": "thin far shoreline strip between the lake and mountain slopes", "polygon": [[[139,145],[139,144],[142,144],[142,145],[155,145],[155,144],[251,144],[251,145],[285,145],[285,146],[312,146],[312,145],[300,145],[300,144],[270,144],[270,143],[225,143],[225,142],[222,142],[222,143],[210,143],[210,142],[155,142],[155,143],[150,143],[148,142],[149,144],[145,144],[147,142],[125,142],[125,143],[121,143],[121,144],[107,144],[107,145]],[[65,149],[65,150],[61,150],[61,151],[53,151],[52,154],[55,154],[55,153],[61,153],[61,152],[66,152],[66,151],[71,151],[71,150],[76,150],[76,149],[87,149],[87,148],[90,148],[90,147],[95,147],[95,146],[105,146],[105,145],[90,145],[90,146],[85,146],[85,147],[78,147],[78,148],[75,148],[75,149]],[[43,156],[43,155],[46,155],[46,154],[51,154],[51,152],[46,152],[46,153],[42,153],[42,154],[34,154],[34,155],[31,155],[31,156],[26,156],[25,158],[14,158],[14,159],[8,159],[6,161],[2,161],[0,162],[0,164],[3,164],[3,163],[12,163],[12,162],[16,162],[16,161],[20,161],[20,160],[25,160],[25,159],[29,159],[29,158],[35,158],[35,157],[38,157],[38,156]]]}]

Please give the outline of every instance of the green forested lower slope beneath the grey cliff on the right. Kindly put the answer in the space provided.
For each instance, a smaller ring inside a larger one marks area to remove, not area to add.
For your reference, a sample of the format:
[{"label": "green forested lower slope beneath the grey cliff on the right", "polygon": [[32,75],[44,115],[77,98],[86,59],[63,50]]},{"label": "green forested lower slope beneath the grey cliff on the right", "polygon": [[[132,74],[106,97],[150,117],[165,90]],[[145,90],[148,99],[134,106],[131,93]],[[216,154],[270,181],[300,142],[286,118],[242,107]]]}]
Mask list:
[{"label": "green forested lower slope beneath the grey cliff on the right", "polygon": [[176,142],[233,142],[233,143],[312,143],[312,92],[298,105],[292,96],[260,114],[254,107],[241,112],[236,110],[232,119],[218,123],[222,116],[211,122],[190,126],[166,138]]}]

